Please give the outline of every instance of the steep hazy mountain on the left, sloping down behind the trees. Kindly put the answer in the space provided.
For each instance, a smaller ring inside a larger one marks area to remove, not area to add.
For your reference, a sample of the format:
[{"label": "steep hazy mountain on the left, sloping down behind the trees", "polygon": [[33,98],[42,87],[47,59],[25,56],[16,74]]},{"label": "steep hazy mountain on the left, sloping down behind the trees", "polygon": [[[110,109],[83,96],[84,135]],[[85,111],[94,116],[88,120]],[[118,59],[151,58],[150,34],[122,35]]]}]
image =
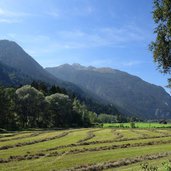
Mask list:
[{"label": "steep hazy mountain on the left, sloping down behind the trees", "polygon": [[0,85],[19,86],[30,84],[33,80],[65,88],[70,95],[74,94],[94,112],[118,113],[114,106],[99,104],[99,98],[90,92],[83,91],[71,82],[57,79],[28,55],[17,43],[9,40],[0,40]]}]

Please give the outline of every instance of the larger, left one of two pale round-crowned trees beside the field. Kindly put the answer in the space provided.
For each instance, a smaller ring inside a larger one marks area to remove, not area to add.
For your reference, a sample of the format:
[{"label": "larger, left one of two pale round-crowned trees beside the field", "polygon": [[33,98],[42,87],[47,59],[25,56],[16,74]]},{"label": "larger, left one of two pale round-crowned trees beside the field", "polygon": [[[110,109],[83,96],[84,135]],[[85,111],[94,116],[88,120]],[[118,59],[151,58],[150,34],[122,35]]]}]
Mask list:
[{"label": "larger, left one of two pale round-crowned trees beside the field", "polygon": [[38,127],[42,120],[43,93],[30,85],[25,85],[16,90],[16,97],[22,127]]}]

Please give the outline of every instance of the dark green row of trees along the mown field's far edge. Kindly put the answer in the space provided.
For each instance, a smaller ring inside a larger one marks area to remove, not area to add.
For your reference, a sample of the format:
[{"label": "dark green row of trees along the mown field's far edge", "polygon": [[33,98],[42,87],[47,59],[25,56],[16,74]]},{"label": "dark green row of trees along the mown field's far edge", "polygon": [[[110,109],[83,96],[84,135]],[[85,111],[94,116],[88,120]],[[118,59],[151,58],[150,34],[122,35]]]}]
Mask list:
[{"label": "dark green row of trees along the mown field's far edge", "polygon": [[97,114],[57,86],[34,81],[18,88],[0,87],[2,129],[90,127],[95,123],[118,122],[121,118],[118,113]]}]

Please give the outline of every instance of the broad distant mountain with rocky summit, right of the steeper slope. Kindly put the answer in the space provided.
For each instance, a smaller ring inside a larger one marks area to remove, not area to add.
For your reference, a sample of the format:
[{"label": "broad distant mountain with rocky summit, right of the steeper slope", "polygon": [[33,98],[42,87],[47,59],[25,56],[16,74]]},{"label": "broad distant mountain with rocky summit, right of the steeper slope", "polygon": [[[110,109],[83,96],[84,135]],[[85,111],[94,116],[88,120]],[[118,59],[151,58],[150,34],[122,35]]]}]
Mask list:
[{"label": "broad distant mountain with rocky summit, right of the steeper slope", "polygon": [[111,68],[64,64],[46,70],[115,105],[121,112],[146,119],[171,118],[171,96],[137,76]]}]

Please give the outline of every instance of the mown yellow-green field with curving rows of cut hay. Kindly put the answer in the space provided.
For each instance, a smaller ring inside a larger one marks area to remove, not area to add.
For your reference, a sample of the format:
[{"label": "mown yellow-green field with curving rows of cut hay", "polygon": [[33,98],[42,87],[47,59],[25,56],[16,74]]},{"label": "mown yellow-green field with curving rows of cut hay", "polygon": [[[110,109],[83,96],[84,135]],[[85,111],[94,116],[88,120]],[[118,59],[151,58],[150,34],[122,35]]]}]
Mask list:
[{"label": "mown yellow-green field with curving rows of cut hay", "polygon": [[171,129],[105,126],[0,134],[0,170],[138,171],[148,161],[164,171],[162,163],[171,159]]}]

